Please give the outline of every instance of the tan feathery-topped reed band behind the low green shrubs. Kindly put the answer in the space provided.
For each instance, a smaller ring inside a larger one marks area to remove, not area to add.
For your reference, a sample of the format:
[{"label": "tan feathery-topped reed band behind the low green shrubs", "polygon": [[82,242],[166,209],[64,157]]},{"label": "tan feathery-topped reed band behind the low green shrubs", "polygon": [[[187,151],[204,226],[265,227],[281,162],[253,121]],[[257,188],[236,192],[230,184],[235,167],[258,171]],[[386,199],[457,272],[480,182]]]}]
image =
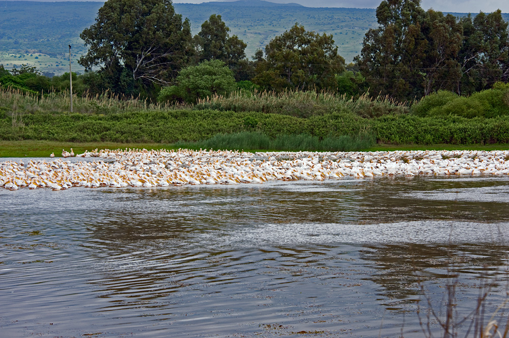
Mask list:
[{"label": "tan feathery-topped reed band behind the low green shrubs", "polygon": [[[127,97],[105,91],[101,95],[85,93],[73,95],[73,112],[82,114],[115,114],[133,110],[166,111],[178,109],[219,111],[253,111],[269,114],[283,114],[296,117],[320,116],[330,113],[354,113],[363,118],[375,118],[390,114],[408,113],[408,104],[400,103],[387,96],[359,98],[347,97],[327,91],[258,91],[253,93],[238,90],[228,97],[214,96],[198,100],[195,104],[172,104],[151,102],[149,99]],[[19,120],[26,113],[69,112],[71,96],[69,90],[49,93],[26,93],[20,89],[0,87],[0,113],[14,115]]]}]

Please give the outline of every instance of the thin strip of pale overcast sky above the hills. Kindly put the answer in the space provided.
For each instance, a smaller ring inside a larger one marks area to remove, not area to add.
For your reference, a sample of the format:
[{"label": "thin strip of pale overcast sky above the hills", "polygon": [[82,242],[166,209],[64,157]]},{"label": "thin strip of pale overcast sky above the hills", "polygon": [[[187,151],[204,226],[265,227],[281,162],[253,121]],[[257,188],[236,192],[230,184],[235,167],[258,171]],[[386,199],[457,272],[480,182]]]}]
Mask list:
[{"label": "thin strip of pale overcast sky above the hills", "polygon": [[[222,0],[224,1],[224,0]],[[232,0],[226,0],[232,1]],[[234,1],[234,0],[233,0]],[[297,3],[306,7],[355,7],[377,8],[380,0],[269,0],[274,3]],[[203,0],[174,0],[174,3],[199,4]],[[479,13],[493,12],[500,9],[509,13],[509,0],[422,0],[421,7],[425,10],[433,8],[442,12]]]}]

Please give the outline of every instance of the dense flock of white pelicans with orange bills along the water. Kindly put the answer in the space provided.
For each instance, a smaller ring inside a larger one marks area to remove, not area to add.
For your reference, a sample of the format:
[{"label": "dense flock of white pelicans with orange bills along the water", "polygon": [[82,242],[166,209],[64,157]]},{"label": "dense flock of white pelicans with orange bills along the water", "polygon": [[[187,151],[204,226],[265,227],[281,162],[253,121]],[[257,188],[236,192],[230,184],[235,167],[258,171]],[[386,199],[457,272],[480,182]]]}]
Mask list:
[{"label": "dense flock of white pelicans with orange bills along the water", "polygon": [[[72,152],[72,151],[71,151]],[[55,159],[0,162],[0,187],[167,187],[263,183],[344,177],[508,175],[509,150],[376,152],[244,152],[118,149],[85,151],[71,162]],[[97,158],[97,159],[96,159]]]}]

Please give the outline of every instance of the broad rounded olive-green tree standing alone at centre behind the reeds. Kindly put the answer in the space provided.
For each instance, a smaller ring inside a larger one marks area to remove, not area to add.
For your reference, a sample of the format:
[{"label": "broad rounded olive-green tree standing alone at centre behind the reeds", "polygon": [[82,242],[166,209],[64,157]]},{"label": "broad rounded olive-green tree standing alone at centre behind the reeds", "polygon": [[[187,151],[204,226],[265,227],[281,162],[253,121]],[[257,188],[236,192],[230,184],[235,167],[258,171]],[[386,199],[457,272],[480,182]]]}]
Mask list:
[{"label": "broad rounded olive-green tree standing alone at centre behind the reeds", "polygon": [[335,88],[335,75],[345,69],[332,35],[308,32],[298,23],[272,39],[262,55],[255,54],[253,82],[267,89]]}]

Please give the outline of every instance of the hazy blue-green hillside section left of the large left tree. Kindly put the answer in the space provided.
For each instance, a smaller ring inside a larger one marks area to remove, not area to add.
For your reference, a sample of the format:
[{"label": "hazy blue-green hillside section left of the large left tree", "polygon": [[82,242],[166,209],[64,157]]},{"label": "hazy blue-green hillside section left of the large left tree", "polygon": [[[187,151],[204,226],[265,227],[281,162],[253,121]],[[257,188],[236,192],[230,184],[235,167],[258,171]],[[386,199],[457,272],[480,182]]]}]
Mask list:
[{"label": "hazy blue-green hillside section left of the large left tree", "polygon": [[87,49],[79,34],[94,23],[102,5],[0,1],[0,64],[7,69],[28,64],[62,74],[69,71],[67,45],[72,45],[73,69],[82,71],[77,59]]}]

